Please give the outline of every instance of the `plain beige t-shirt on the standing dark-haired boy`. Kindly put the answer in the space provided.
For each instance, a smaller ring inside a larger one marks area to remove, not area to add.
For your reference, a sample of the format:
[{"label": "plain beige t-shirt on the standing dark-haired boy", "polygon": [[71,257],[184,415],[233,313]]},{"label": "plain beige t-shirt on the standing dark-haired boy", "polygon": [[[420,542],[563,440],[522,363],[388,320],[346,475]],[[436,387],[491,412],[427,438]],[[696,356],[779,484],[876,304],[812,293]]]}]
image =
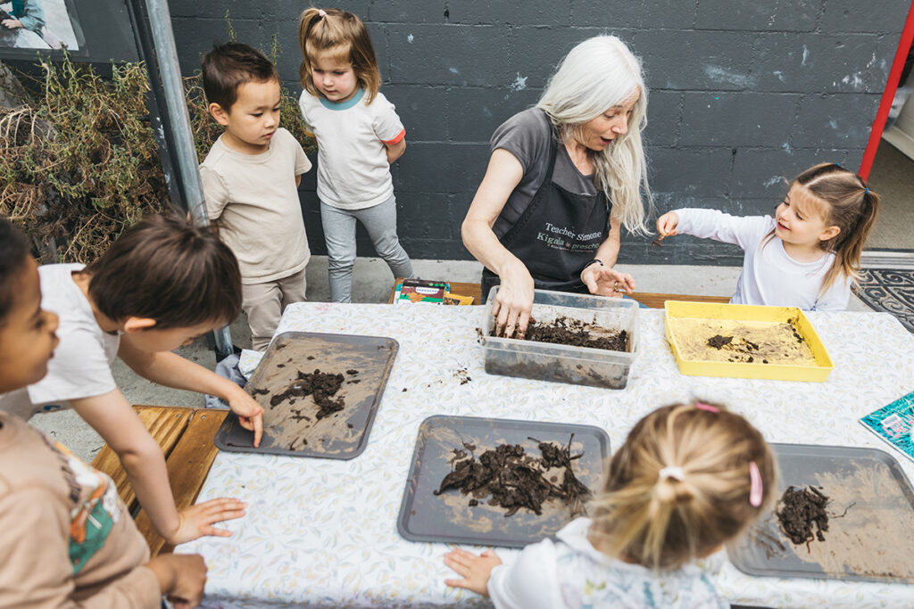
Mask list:
[{"label": "plain beige t-shirt on the standing dark-haired boy", "polygon": [[200,163],[207,215],[238,258],[242,283],[289,277],[308,264],[295,177],[310,169],[302,144],[282,127],[261,154],[233,151],[219,136]]}]

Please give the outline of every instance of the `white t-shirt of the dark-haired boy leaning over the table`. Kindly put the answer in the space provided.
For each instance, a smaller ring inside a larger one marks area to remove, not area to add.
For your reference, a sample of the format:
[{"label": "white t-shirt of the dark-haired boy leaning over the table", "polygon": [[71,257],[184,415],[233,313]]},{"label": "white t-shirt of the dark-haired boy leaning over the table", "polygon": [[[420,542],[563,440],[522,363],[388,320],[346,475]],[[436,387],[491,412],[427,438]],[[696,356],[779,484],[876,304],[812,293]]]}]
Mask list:
[{"label": "white t-shirt of the dark-haired boy leaning over the table", "polygon": [[71,275],[82,268],[80,264],[38,268],[41,308],[57,313],[60,343],[45,378],[0,395],[0,410],[28,420],[37,412],[69,407],[69,400],[117,389],[111,367],[121,337],[102,331],[95,320],[89,300]]}]

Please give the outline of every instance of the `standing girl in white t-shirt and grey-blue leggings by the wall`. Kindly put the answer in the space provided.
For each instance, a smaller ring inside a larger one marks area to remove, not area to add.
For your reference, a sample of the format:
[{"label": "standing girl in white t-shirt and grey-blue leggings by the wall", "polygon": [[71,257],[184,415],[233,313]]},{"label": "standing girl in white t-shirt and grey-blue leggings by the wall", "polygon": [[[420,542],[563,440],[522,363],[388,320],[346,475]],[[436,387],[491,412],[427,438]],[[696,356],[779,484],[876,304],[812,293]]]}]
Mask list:
[{"label": "standing girl in white t-shirt and grey-blue leggings by the wall", "polygon": [[397,200],[390,164],[406,150],[406,129],[380,91],[375,49],[365,24],[335,8],[309,8],[298,30],[302,46],[304,121],[317,138],[317,198],[327,243],[330,299],[352,299],[356,220],[394,277],[412,277],[397,238]]}]

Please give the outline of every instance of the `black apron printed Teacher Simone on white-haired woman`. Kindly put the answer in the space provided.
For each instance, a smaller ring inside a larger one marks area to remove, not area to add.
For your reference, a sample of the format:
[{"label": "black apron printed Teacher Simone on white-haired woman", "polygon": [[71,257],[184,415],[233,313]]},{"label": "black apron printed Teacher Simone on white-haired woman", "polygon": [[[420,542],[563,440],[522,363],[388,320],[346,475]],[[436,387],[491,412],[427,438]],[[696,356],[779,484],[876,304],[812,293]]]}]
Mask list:
[{"label": "black apron printed Teacher Simone on white-haired woman", "polygon": [[[611,204],[602,191],[569,193],[552,181],[561,145],[551,147],[546,179],[498,241],[526,265],[535,289],[587,294],[590,290],[581,282],[580,272],[609,236]],[[499,283],[497,275],[483,269],[483,301]]]}]

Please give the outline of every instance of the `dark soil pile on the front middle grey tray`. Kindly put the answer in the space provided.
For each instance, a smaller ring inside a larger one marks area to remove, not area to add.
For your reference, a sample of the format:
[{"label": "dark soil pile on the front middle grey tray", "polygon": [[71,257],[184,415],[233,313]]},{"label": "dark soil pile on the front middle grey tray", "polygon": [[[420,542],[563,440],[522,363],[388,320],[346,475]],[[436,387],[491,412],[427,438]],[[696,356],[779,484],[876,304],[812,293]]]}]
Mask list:
[{"label": "dark soil pile on the front middle grey tray", "polygon": [[[464,444],[463,449],[455,448],[452,471],[441,480],[441,486],[434,494],[459,488],[464,495],[473,495],[470,507],[479,505],[478,499],[491,495],[488,504],[507,509],[505,517],[514,516],[521,508],[541,515],[543,502],[551,498],[561,499],[570,506],[572,517],[583,513],[584,501],[590,499],[590,489],[575,477],[571,467],[572,461],[583,453],[571,455],[571,439],[565,447],[530,439],[538,443],[541,457],[527,455],[519,444],[495,446],[478,460],[473,455],[476,446]],[[547,472],[554,468],[565,470],[561,484],[557,484],[558,476],[546,478]]]}]

